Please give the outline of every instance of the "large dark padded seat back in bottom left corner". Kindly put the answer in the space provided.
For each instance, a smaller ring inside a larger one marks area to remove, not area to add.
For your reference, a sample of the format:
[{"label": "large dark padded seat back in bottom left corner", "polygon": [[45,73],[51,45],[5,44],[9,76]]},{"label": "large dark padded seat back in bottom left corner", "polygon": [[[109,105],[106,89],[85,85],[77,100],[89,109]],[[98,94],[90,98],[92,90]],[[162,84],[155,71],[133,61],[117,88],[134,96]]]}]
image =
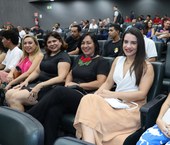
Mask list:
[{"label": "large dark padded seat back in bottom left corner", "polygon": [[31,115],[0,107],[0,145],[43,145],[43,126]]}]

